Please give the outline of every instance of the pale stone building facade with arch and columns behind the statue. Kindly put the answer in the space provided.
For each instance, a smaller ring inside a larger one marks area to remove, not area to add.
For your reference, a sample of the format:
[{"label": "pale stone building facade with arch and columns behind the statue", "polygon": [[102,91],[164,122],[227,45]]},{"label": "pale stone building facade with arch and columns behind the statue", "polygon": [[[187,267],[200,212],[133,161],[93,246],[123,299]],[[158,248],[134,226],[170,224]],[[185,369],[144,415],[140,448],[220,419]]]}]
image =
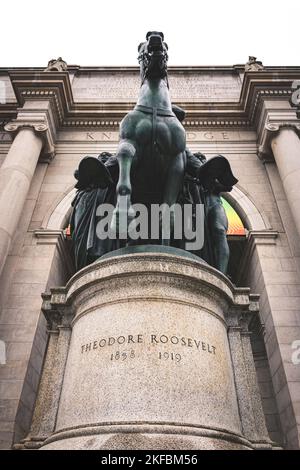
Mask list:
[{"label": "pale stone building facade with arch and columns behind the statue", "polygon": [[[252,58],[255,59],[255,58]],[[53,62],[53,61],[52,61]],[[136,101],[135,67],[0,69],[0,447],[29,432],[47,344],[41,294],[74,273],[65,235],[74,170],[114,152]],[[65,65],[64,65],[65,64]],[[257,64],[257,66],[255,65]],[[269,436],[300,445],[300,67],[170,67],[188,146],[225,155],[225,197],[246,228],[230,240],[231,277],[260,296],[252,346]],[[298,342],[298,343],[297,343]]]}]

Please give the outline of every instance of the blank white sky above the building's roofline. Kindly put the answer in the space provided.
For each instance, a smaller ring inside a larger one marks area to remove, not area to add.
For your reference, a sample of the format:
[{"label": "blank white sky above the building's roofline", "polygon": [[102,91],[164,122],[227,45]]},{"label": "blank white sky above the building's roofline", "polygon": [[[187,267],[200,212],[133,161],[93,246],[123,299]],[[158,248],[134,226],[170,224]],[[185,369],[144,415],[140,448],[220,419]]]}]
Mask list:
[{"label": "blank white sky above the building's roofline", "polygon": [[4,0],[0,67],[137,65],[149,30],[169,65],[300,65],[299,0]]}]

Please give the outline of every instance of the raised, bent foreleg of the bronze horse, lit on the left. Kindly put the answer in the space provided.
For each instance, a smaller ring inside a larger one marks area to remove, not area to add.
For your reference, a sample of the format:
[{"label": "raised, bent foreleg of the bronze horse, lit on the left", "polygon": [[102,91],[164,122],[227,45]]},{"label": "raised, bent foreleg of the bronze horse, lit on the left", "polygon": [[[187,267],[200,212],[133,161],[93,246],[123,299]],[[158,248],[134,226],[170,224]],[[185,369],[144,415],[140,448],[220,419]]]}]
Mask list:
[{"label": "raised, bent foreleg of the bronze horse, lit on the left", "polygon": [[135,152],[135,147],[131,142],[122,140],[116,154],[120,172],[116,188],[117,204],[113,212],[111,229],[123,239],[127,238],[128,225],[134,218],[134,211],[131,207],[130,170]]}]

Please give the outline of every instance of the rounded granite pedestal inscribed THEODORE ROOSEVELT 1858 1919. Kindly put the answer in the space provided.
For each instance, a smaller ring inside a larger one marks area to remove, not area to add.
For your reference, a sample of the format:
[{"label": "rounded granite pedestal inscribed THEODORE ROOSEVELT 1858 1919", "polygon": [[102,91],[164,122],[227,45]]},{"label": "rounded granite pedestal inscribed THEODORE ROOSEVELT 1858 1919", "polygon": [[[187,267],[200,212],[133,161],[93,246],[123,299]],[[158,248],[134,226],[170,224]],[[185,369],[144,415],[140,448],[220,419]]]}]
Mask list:
[{"label": "rounded granite pedestal inscribed THEODORE ROOSEVELT 1858 1919", "polygon": [[180,251],[111,253],[44,296],[24,447],[272,447],[248,333],[257,296]]}]

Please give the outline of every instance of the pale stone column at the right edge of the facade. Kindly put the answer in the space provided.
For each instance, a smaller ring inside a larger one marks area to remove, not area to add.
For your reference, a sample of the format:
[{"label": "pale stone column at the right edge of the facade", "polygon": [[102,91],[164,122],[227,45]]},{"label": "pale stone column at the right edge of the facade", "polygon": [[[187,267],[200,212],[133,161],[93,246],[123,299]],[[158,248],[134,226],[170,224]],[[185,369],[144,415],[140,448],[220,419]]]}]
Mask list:
[{"label": "pale stone column at the right edge of the facade", "polygon": [[300,235],[300,139],[295,129],[281,127],[271,140],[271,148]]}]

